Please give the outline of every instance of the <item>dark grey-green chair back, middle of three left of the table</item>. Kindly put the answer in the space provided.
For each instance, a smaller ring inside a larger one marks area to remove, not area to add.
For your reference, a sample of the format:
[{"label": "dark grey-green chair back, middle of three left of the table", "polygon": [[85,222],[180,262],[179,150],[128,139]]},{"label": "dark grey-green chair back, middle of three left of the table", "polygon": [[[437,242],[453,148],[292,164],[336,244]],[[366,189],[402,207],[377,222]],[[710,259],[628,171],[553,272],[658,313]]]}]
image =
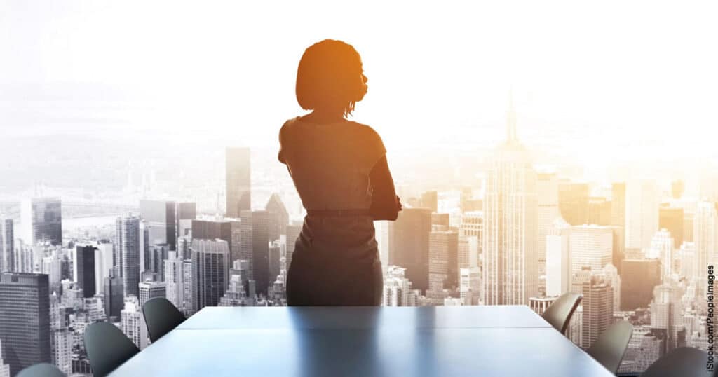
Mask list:
[{"label": "dark grey-green chair back, middle of three left of the table", "polygon": [[109,322],[93,323],[85,329],[85,350],[95,377],[107,376],[139,353],[132,340]]}]

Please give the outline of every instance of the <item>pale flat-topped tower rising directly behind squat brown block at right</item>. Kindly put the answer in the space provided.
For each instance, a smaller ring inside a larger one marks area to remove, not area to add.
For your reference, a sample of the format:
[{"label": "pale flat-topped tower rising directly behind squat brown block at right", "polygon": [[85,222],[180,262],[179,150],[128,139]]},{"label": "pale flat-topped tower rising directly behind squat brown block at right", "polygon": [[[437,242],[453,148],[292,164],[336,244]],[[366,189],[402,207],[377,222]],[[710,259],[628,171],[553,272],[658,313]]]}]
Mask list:
[{"label": "pale flat-topped tower rising directly behind squat brown block at right", "polygon": [[626,184],[626,248],[651,247],[658,231],[658,187],[653,180],[631,180]]}]

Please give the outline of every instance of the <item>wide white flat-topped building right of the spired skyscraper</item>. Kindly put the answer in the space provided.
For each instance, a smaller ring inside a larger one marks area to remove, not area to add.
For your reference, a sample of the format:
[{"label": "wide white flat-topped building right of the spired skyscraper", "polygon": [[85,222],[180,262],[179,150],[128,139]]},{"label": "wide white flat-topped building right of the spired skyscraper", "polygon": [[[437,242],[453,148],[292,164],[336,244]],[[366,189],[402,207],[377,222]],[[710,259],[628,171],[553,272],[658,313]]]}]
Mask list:
[{"label": "wide white flat-topped building right of the spired skyscraper", "polygon": [[582,269],[600,271],[613,260],[613,231],[601,225],[577,225],[569,237],[571,274]]}]

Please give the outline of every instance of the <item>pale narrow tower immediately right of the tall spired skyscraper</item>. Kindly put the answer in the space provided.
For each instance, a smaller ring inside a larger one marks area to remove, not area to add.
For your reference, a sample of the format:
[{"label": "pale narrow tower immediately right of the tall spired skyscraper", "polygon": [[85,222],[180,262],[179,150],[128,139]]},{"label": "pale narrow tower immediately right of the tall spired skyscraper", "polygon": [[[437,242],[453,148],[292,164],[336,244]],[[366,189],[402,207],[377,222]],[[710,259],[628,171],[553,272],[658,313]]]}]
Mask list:
[{"label": "pale narrow tower immediately right of the tall spired skyscraper", "polygon": [[[556,173],[538,173],[538,274],[546,274],[546,236],[549,235],[559,211],[559,180]],[[548,276],[547,276],[548,278]],[[544,289],[546,289],[544,284]]]}]

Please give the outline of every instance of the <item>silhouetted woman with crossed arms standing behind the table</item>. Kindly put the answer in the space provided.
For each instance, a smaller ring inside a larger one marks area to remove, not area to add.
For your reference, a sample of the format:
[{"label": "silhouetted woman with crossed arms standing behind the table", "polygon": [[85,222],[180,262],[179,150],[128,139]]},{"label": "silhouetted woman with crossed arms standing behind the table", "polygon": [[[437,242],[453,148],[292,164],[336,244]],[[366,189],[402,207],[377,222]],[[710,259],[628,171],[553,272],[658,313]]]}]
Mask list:
[{"label": "silhouetted woman with crossed arms standing behind the table", "polygon": [[287,276],[289,305],[381,302],[373,220],[396,220],[401,203],[381,137],[346,118],[366,82],[358,52],[344,42],[318,42],[299,61],[297,101],[312,112],[279,131],[279,161],[307,209]]}]

